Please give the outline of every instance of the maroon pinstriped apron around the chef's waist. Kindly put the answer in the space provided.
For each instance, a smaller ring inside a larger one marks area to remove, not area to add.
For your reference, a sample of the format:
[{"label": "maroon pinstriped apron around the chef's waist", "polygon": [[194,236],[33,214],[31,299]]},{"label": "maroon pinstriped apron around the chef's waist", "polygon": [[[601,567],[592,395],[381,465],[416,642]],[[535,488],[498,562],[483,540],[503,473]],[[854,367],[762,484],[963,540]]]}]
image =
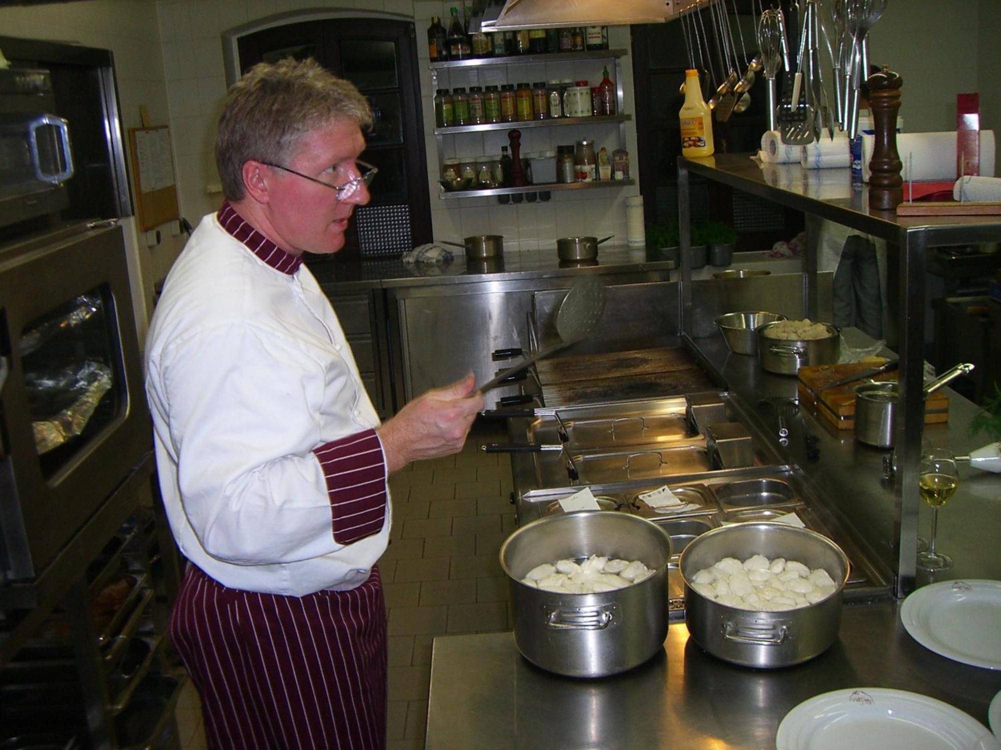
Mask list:
[{"label": "maroon pinstriped apron around the chef's waist", "polygon": [[385,747],[378,568],[303,597],[222,586],[188,565],[168,635],[201,696],[210,750]]}]

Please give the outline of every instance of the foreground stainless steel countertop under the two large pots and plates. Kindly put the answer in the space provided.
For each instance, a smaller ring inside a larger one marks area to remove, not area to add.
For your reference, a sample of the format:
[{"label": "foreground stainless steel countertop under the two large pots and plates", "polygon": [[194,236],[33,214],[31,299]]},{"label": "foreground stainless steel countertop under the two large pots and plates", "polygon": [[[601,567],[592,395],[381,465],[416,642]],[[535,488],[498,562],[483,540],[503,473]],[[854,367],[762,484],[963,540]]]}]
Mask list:
[{"label": "foreground stainless steel countertop under the two large pots and plates", "polygon": [[534,667],[511,633],[435,638],[427,750],[657,750],[775,747],[786,713],[829,690],[885,687],[938,698],[986,726],[1001,672],[939,656],[903,629],[900,603],[850,604],[840,636],[796,667],[736,667],[702,651],[684,623],[664,651],[623,675],[560,677]]}]

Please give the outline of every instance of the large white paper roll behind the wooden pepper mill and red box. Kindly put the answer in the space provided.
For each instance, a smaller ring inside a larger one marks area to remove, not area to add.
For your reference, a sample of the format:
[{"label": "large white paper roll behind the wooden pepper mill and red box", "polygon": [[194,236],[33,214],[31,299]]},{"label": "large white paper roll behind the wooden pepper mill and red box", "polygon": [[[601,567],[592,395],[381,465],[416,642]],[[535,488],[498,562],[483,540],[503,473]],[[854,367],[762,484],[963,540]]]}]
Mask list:
[{"label": "large white paper roll behind the wooden pepper mill and red box", "polygon": [[[876,137],[862,136],[862,179],[869,182],[869,162]],[[956,132],[897,133],[897,153],[904,168],[904,180],[955,180]],[[994,176],[994,131],[980,131],[980,175]],[[911,173],[913,171],[913,173]]]}]

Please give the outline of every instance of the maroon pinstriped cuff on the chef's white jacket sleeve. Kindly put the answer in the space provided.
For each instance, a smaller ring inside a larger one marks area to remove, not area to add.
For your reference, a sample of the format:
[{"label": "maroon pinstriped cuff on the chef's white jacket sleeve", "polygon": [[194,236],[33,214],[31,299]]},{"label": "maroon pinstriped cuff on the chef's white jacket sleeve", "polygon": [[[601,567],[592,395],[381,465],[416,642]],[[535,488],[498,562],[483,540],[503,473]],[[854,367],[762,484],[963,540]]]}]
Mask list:
[{"label": "maroon pinstriped cuff on the chef's white jacket sleeve", "polygon": [[330,498],[333,541],[350,544],[377,534],[385,522],[385,461],[374,429],[313,450]]}]

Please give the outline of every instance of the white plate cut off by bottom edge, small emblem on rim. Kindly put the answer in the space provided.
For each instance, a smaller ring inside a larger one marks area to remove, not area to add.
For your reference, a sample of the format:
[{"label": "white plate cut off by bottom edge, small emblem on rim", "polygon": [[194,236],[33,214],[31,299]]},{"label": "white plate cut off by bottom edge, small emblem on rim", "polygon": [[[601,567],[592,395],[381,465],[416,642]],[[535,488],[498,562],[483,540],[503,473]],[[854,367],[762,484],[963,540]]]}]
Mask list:
[{"label": "white plate cut off by bottom edge, small emblem on rim", "polygon": [[1001,750],[987,727],[948,703],[885,688],[835,690],[786,714],[777,750]]}]

